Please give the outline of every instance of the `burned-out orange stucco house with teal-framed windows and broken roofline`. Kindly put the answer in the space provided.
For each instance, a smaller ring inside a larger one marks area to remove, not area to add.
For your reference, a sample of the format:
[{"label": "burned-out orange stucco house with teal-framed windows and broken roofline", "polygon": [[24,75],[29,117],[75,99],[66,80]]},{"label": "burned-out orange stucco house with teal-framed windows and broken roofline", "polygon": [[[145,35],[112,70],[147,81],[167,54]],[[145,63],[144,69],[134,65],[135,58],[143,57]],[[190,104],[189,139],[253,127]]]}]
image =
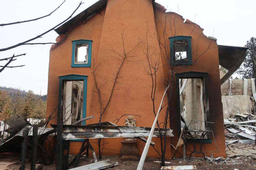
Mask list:
[{"label": "burned-out orange stucco house with teal-framed windows and broken roofline", "polygon": [[[158,118],[164,122],[167,112],[167,128],[173,130],[166,158],[173,156],[183,127],[212,130],[215,139],[206,135],[203,151],[226,155],[218,45],[199,25],[151,0],[99,0],[55,31],[61,44],[50,49],[47,112],[62,114],[66,125],[94,115],[81,125],[123,126],[122,116],[131,114],[136,126],[151,127],[169,82]],[[50,123],[57,124],[57,118]],[[120,155],[122,140],[105,138],[103,155]],[[160,147],[159,138],[152,141]],[[195,142],[199,146],[200,139]],[[72,140],[70,154],[81,143]],[[143,148],[138,150],[140,156]],[[158,154],[150,147],[147,156]]]}]

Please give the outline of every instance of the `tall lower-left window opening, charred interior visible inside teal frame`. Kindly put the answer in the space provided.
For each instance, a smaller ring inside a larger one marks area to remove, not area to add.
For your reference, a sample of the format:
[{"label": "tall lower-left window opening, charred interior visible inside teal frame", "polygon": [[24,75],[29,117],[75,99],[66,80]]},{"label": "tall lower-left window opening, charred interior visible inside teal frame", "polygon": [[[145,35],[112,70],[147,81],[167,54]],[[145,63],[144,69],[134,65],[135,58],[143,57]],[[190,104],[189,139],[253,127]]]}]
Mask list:
[{"label": "tall lower-left window opening, charred interior visible inside teal frame", "polygon": [[83,90],[83,80],[63,81],[61,102],[64,124],[70,125],[82,118]]}]

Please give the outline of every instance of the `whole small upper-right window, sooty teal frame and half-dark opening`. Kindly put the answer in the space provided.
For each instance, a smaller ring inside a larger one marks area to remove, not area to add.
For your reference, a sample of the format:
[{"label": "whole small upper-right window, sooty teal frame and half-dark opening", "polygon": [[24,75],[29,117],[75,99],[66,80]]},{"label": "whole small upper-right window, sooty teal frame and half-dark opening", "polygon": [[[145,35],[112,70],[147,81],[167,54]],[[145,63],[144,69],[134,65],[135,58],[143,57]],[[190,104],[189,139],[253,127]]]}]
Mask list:
[{"label": "whole small upper-right window, sooty teal frame and half-dark opening", "polygon": [[174,36],[170,40],[170,57],[173,65],[192,64],[191,36]]}]

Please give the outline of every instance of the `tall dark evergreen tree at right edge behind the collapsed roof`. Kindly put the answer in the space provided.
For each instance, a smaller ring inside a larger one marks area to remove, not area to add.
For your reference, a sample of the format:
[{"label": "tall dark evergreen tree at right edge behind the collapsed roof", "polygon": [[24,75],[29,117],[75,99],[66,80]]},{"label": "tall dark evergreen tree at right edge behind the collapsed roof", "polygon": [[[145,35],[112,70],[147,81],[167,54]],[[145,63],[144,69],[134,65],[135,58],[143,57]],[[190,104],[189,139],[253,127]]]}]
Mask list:
[{"label": "tall dark evergreen tree at right edge behind the collapsed roof", "polygon": [[[256,38],[251,37],[250,41],[247,41],[246,47],[249,47],[249,50],[252,52],[252,57],[256,57]],[[243,78],[250,79],[256,78],[256,67],[253,63],[253,60],[248,54],[243,61],[241,67],[236,71],[236,73],[243,75]]]}]

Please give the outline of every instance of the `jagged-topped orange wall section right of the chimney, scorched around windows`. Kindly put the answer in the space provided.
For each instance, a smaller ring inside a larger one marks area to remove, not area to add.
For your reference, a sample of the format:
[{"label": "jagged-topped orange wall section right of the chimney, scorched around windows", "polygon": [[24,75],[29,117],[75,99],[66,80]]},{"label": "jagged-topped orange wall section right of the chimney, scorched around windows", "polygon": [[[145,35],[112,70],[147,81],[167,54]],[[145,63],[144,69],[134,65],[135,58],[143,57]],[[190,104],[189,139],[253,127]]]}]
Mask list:
[{"label": "jagged-topped orange wall section right of the chimney, scorched around windows", "polygon": [[[211,124],[211,130],[214,132],[214,136],[217,142],[217,146],[219,148],[219,153],[213,153],[214,156],[217,155],[226,155],[225,153],[225,136],[224,132],[220,130],[220,127],[224,127],[223,124],[223,110],[221,103],[221,90],[220,90],[220,78],[219,78],[219,59],[218,59],[218,46],[217,43],[209,38],[207,38],[203,34],[203,29],[189,21],[184,19],[181,15],[175,12],[167,12],[159,6],[157,3],[154,3],[154,14],[155,14],[155,22],[156,28],[159,32],[158,37],[162,44],[165,43],[166,37],[163,35],[164,28],[161,23],[171,23],[171,30],[166,29],[166,33],[169,37],[171,36],[191,36],[191,46],[192,46],[192,65],[181,67],[174,66],[174,69],[178,69],[177,73],[186,72],[186,71],[199,71],[199,72],[207,72],[208,73],[208,93],[209,93],[209,110],[210,110],[210,122],[214,122],[215,124]],[[162,53],[161,53],[162,54]],[[163,54],[162,54],[163,55]],[[162,56],[163,65],[168,65],[165,59]],[[170,74],[170,67],[166,66],[163,68],[164,77],[168,79]],[[175,76],[174,76],[175,80]],[[177,80],[176,80],[177,81]],[[173,87],[175,87],[175,81],[173,82]],[[176,87],[178,88],[178,87]],[[173,94],[175,94],[175,88],[172,88]],[[171,117],[177,120],[177,110],[176,110],[176,97],[173,96],[170,101],[172,107]],[[173,121],[170,125],[171,129],[177,128],[177,121]],[[174,136],[177,136],[177,131],[173,131]],[[175,138],[176,139],[176,138]],[[174,140],[175,140],[174,139]],[[175,141],[176,142],[176,141]],[[191,145],[192,146],[192,145]],[[215,148],[214,142],[212,143],[204,143],[203,150],[207,150],[209,148]],[[211,149],[210,149],[211,150]]]}]

